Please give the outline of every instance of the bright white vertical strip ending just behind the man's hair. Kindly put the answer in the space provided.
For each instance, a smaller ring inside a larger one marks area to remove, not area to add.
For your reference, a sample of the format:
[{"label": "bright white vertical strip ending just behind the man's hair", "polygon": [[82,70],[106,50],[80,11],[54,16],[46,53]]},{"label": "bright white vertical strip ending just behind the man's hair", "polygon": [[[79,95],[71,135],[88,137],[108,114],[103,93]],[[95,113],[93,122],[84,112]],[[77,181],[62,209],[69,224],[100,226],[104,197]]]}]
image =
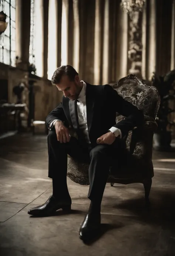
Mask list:
[{"label": "bright white vertical strip ending just behind the man's hair", "polygon": [[49,0],[49,18],[48,18],[48,79],[50,80],[57,68],[57,33],[58,33],[58,6],[57,0]]}]

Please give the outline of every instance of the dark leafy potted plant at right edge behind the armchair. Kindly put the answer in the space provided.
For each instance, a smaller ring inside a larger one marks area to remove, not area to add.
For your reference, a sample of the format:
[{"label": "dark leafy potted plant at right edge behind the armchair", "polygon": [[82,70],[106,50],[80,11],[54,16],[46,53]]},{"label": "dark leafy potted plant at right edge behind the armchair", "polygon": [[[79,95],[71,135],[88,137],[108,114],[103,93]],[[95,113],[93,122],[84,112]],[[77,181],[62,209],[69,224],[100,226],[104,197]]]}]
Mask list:
[{"label": "dark leafy potted plant at right edge behind the armchair", "polygon": [[156,122],[158,124],[157,132],[154,134],[154,149],[159,151],[171,150],[171,128],[175,122],[169,121],[169,114],[174,109],[169,107],[169,101],[175,99],[175,69],[164,76],[152,76],[152,85],[158,89],[161,103],[157,113]]}]

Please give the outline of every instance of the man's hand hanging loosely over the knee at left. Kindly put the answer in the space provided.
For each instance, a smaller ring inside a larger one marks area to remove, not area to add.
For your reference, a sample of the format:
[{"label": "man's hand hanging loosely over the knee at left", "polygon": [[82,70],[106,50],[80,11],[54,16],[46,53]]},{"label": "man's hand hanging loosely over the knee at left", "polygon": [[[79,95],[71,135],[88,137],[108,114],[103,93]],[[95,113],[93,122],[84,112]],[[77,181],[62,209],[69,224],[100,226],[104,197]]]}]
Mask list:
[{"label": "man's hand hanging loosely over the knee at left", "polygon": [[71,136],[69,136],[69,129],[64,126],[64,123],[62,123],[61,121],[56,121],[55,132],[56,132],[57,140],[60,143],[69,142]]}]

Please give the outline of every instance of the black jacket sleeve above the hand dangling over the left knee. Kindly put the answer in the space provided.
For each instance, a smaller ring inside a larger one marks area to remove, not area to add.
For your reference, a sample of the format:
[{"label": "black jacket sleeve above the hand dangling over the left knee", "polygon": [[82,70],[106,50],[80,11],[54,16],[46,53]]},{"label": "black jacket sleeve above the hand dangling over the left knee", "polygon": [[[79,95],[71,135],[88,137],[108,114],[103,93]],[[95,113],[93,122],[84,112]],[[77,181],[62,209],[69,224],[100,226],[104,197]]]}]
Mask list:
[{"label": "black jacket sleeve above the hand dangling over the left knee", "polygon": [[62,122],[64,122],[65,126],[69,127],[68,120],[65,116],[64,109],[62,107],[62,102],[55,108],[53,109],[48,116],[46,117],[46,124],[48,129],[50,130],[50,124],[55,120],[59,119]]}]

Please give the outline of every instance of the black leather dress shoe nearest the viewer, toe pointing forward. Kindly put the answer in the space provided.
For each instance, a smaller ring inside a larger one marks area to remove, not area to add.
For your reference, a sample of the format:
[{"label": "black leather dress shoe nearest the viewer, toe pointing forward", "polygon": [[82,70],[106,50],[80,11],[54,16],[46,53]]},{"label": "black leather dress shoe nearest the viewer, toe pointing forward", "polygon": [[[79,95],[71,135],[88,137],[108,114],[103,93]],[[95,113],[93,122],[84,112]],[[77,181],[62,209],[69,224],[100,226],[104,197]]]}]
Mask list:
[{"label": "black leather dress shoe nearest the viewer, toe pointing forward", "polygon": [[101,215],[88,213],[80,226],[79,238],[84,242],[88,242],[100,231]]}]

